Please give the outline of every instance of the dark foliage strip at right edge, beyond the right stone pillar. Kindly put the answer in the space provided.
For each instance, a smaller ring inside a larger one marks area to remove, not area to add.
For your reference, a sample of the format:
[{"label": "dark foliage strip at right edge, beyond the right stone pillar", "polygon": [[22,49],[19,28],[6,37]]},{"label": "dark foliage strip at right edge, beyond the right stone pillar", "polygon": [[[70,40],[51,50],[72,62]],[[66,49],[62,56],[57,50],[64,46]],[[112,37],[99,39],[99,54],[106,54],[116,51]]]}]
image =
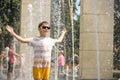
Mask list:
[{"label": "dark foliage strip at right edge, beyond the right stone pillar", "polygon": [[[120,46],[120,0],[114,0],[114,47]],[[120,48],[119,48],[120,50]],[[120,51],[114,51],[113,54],[114,69],[120,69]],[[114,78],[120,78],[120,74],[113,75]]]}]

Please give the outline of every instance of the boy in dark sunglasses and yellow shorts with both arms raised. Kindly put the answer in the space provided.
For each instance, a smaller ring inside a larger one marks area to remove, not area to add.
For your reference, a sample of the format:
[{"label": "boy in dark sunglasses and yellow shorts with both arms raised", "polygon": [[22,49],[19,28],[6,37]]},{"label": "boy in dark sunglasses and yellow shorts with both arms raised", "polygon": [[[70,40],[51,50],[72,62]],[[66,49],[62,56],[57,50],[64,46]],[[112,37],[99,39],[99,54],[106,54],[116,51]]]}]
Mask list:
[{"label": "boy in dark sunglasses and yellow shorts with both arms raised", "polygon": [[49,37],[50,29],[49,23],[43,21],[38,25],[40,35],[33,38],[22,38],[17,35],[13,28],[6,26],[6,29],[17,40],[23,43],[28,43],[34,49],[34,63],[33,63],[33,78],[34,80],[49,80],[51,50],[55,43],[60,43],[66,33],[66,29],[62,30],[61,36],[58,39]]}]

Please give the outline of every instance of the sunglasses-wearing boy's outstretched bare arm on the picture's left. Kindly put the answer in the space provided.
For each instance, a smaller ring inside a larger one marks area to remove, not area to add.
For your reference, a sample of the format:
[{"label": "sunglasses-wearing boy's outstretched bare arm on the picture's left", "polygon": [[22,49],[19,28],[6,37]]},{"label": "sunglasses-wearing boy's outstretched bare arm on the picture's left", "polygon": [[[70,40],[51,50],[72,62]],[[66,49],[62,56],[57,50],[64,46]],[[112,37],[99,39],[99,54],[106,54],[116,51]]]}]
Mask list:
[{"label": "sunglasses-wearing boy's outstretched bare arm on the picture's left", "polygon": [[15,37],[18,41],[23,42],[23,43],[28,43],[30,41],[30,39],[25,39],[22,38],[21,36],[17,35],[14,31],[13,28],[10,27],[9,25],[6,26],[6,29],[8,32],[10,32],[10,34]]}]

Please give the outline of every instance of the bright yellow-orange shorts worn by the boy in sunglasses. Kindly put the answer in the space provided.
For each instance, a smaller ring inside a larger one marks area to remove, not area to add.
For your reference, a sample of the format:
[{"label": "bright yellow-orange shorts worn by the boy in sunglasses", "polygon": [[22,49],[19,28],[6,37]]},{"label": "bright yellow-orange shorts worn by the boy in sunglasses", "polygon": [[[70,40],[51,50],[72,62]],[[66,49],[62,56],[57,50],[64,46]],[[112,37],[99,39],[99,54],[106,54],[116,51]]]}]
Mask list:
[{"label": "bright yellow-orange shorts worn by the boy in sunglasses", "polygon": [[49,80],[50,68],[35,68],[33,67],[33,78]]}]

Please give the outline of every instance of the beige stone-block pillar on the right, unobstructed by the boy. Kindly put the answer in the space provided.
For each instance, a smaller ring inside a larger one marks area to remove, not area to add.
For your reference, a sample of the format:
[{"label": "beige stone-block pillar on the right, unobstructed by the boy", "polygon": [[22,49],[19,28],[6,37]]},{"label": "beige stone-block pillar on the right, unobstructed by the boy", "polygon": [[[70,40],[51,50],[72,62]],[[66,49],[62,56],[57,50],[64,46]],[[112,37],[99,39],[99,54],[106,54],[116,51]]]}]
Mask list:
[{"label": "beige stone-block pillar on the right, unobstructed by the boy", "polygon": [[81,79],[112,79],[113,5],[113,0],[81,0]]}]

